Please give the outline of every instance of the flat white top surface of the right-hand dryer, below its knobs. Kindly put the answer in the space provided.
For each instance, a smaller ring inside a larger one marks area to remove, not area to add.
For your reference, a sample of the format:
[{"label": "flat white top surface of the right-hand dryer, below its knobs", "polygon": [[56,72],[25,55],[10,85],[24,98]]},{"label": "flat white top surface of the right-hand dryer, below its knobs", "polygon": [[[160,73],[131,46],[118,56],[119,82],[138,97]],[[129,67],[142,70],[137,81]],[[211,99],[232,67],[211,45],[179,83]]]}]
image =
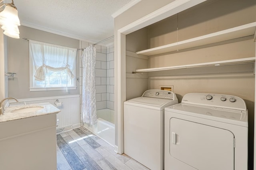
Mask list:
[{"label": "flat white top surface of the right-hand dryer, below its knobs", "polygon": [[248,127],[248,111],[182,103],[166,107],[165,111]]}]

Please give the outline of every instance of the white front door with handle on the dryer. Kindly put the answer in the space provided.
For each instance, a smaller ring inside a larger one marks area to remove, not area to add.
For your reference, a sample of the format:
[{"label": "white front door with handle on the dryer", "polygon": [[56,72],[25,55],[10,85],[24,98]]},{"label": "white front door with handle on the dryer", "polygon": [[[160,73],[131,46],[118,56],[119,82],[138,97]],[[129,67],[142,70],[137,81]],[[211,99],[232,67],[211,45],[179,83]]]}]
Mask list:
[{"label": "white front door with handle on the dryer", "polygon": [[170,154],[198,170],[234,170],[234,135],[228,130],[170,119]]}]

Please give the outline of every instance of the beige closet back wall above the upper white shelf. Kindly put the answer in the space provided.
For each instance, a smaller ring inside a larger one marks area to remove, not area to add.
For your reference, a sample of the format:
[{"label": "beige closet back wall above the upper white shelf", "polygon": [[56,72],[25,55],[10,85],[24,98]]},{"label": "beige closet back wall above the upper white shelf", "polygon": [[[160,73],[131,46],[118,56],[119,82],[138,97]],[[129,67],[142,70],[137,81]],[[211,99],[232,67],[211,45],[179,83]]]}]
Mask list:
[{"label": "beige closet back wall above the upper white shelf", "polygon": [[255,0],[207,0],[148,26],[148,48],[222,31],[254,22]]}]

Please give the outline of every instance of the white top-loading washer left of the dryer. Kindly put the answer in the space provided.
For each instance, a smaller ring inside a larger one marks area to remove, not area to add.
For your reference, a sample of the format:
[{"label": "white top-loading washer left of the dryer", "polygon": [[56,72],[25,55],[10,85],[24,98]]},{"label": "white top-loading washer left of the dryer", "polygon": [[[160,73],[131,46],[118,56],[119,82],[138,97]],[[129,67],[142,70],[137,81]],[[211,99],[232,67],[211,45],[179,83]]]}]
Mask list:
[{"label": "white top-loading washer left of the dryer", "polygon": [[147,90],[124,102],[124,153],[151,170],[164,169],[164,107],[178,104],[176,94]]}]

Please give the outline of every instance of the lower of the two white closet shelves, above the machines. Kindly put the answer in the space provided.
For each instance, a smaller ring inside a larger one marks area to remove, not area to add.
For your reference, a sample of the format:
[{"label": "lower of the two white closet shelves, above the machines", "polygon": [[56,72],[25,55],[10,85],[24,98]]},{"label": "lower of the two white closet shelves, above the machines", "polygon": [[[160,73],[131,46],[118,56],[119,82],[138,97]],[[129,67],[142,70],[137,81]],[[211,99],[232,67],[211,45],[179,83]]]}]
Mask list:
[{"label": "lower of the two white closet shelves, above the machines", "polygon": [[246,64],[246,63],[254,63],[254,62],[255,62],[255,57],[249,57],[249,58],[233,59],[233,60],[225,60],[225,61],[214,61],[214,62],[209,62],[209,63],[198,63],[198,64],[187,64],[187,65],[180,65],[180,66],[137,69],[132,73],[174,70],[174,69],[183,69],[183,68],[192,68],[192,67],[225,66],[225,65]]}]

